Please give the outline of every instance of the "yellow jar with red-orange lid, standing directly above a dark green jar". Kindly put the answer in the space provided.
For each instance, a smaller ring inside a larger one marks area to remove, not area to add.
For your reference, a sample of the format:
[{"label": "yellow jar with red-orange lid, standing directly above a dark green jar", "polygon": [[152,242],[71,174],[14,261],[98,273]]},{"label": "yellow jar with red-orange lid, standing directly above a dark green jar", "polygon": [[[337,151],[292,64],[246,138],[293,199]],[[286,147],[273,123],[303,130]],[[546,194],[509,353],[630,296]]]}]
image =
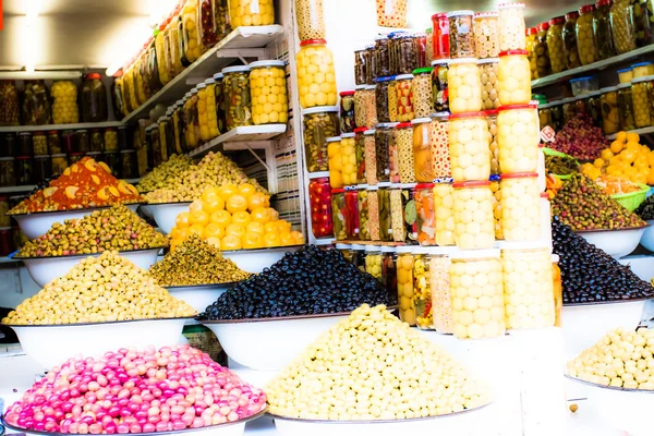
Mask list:
[{"label": "yellow jar with red-orange lid, standing directly above a dark green jar", "polygon": [[325,39],[300,43],[296,62],[300,106],[306,109],[336,105],[338,96],[334,57]]}]

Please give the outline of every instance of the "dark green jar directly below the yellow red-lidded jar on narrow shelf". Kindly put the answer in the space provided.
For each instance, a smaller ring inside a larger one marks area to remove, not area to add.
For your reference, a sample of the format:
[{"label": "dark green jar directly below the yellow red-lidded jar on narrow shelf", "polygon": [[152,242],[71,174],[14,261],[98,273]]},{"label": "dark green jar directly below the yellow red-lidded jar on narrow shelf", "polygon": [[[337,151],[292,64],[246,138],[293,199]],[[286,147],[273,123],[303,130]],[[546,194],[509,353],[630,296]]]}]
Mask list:
[{"label": "dark green jar directly below the yellow red-lidded jar on narrow shelf", "polygon": [[322,106],[302,111],[304,158],[308,172],[328,171],[327,138],[338,136],[338,108]]}]

